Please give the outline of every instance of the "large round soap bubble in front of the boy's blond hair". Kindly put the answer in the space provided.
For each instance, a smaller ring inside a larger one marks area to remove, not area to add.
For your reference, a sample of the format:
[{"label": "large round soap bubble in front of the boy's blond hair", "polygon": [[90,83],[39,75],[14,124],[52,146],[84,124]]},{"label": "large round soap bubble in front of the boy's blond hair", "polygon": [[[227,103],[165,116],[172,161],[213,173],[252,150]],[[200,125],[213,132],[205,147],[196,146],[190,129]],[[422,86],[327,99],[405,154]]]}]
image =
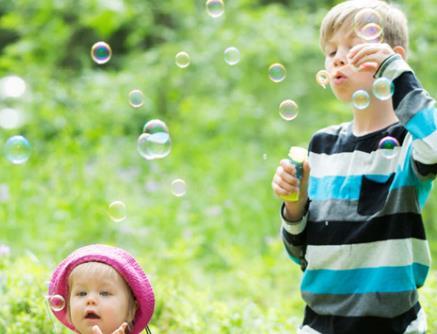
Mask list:
[{"label": "large round soap bubble in front of the boy's blond hair", "polygon": [[381,15],[372,8],[364,8],[354,17],[355,33],[366,41],[379,39],[384,31],[383,26]]}]

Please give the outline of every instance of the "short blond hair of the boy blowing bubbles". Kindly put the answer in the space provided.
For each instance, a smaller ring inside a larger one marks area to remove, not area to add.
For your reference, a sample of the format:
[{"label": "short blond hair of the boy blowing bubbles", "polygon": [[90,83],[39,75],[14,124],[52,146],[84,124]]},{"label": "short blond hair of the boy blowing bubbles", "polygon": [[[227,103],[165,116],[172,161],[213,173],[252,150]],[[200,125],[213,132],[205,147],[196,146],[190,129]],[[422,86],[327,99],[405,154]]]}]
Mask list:
[{"label": "short blond hair of the boy blowing bubbles", "polygon": [[332,35],[344,28],[353,30],[355,15],[364,8],[376,10],[383,20],[384,42],[391,47],[402,46],[408,50],[408,22],[398,8],[381,0],[348,0],[331,8],[320,26],[320,47],[325,51],[326,43]]}]

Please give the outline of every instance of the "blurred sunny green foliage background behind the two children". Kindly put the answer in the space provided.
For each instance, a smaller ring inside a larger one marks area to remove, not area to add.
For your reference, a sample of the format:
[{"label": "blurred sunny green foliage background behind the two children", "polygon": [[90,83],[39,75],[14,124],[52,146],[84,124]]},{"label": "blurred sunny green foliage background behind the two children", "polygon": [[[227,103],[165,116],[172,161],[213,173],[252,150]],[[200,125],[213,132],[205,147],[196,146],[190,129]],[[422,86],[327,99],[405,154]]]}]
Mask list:
[{"label": "blurred sunny green foliage background behind the two children", "polygon": [[[153,333],[294,333],[303,316],[300,269],[279,238],[271,178],[290,145],[351,118],[348,106],[316,83],[323,67],[318,29],[338,1],[234,0],[210,17],[205,1],[2,0],[0,77],[27,84],[0,109],[24,116],[0,129],[0,145],[24,135],[29,161],[0,159],[0,333],[66,333],[44,302],[51,271],[89,243],[123,247],[151,278]],[[396,2],[410,21],[409,62],[436,94],[437,1]],[[91,46],[113,55],[95,64]],[[223,52],[241,52],[229,66]],[[175,65],[186,51],[191,64]],[[270,64],[287,69],[281,83]],[[127,102],[141,89],[145,105]],[[293,99],[298,117],[278,105]],[[172,151],[147,161],[136,151],[145,122],[163,120]],[[171,182],[187,185],[183,197]],[[127,206],[114,222],[108,205]],[[424,210],[437,257],[437,193]],[[437,333],[437,273],[422,289]],[[433,299],[434,298],[434,299]]]}]

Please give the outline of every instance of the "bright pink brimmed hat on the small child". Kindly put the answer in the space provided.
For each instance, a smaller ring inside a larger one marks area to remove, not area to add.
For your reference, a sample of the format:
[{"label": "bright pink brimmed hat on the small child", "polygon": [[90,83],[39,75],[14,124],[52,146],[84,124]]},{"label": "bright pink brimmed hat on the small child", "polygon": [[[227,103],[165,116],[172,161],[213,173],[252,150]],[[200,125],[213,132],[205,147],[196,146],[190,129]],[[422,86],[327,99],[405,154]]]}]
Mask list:
[{"label": "bright pink brimmed hat on the small child", "polygon": [[[140,333],[152,318],[155,308],[155,295],[152,285],[140,265],[125,250],[107,245],[89,245],[81,247],[65,258],[53,272],[49,285],[49,298],[60,295],[68,300],[68,277],[79,264],[101,262],[113,267],[126,281],[137,302],[137,311],[130,334]],[[53,310],[53,314],[65,326],[77,332],[68,319],[67,307]]]}]

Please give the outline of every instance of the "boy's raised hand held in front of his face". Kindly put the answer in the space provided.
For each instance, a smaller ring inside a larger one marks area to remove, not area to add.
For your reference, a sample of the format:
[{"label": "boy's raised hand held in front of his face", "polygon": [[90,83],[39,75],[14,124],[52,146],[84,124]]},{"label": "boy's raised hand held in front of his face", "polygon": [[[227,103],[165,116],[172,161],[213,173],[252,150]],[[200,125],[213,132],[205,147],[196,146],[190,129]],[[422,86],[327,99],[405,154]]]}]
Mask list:
[{"label": "boy's raised hand held in front of his face", "polygon": [[347,58],[360,71],[375,72],[393,54],[394,50],[387,43],[362,43],[350,49]]}]

